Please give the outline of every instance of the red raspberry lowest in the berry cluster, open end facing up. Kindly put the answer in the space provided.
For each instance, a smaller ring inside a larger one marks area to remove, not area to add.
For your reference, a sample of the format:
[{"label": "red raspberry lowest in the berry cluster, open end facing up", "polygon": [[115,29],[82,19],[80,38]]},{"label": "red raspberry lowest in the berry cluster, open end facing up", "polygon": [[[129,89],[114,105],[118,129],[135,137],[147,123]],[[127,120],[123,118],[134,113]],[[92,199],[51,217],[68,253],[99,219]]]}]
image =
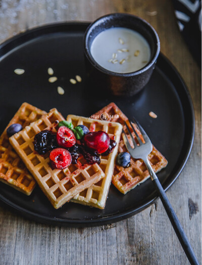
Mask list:
[{"label": "red raspberry lowest in the berry cluster, open end facing up", "polygon": [[51,151],[49,158],[52,160],[52,166],[58,169],[68,167],[72,162],[70,152],[64,148],[56,148]]}]

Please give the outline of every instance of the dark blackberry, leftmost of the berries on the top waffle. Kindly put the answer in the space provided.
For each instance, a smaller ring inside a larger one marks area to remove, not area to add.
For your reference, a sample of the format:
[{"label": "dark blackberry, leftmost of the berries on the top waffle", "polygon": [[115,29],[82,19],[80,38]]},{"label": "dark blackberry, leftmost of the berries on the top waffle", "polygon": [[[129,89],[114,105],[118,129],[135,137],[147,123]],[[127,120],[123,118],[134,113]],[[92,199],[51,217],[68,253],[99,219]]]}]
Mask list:
[{"label": "dark blackberry, leftmost of the berries on the top waffle", "polygon": [[34,137],[34,150],[40,155],[57,147],[56,134],[51,130],[42,130]]}]

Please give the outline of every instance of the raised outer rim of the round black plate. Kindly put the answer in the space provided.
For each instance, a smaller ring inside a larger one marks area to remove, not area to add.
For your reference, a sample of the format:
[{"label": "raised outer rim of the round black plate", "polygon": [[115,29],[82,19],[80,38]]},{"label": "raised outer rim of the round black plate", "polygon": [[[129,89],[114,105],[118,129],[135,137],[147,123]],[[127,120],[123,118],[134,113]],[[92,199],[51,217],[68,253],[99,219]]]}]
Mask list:
[{"label": "raised outer rim of the round black plate", "polygon": [[[13,42],[17,41],[18,39],[25,37],[27,35],[30,35],[34,32],[38,32],[40,30],[48,30],[51,28],[56,28],[58,27],[59,29],[61,27],[71,27],[71,26],[76,26],[78,27],[78,31],[79,31],[79,27],[86,27],[89,26],[91,22],[59,22],[59,23],[51,23],[51,24],[45,24],[42,26],[37,26],[37,27],[33,27],[31,29],[28,29],[24,32],[20,32],[19,34],[5,40],[4,42],[2,42],[0,44],[0,61],[1,58],[4,57],[4,55],[6,55],[9,51],[12,51],[15,48],[10,49],[10,44],[12,44]],[[44,33],[47,34],[48,32]],[[50,32],[51,33],[51,32]],[[52,32],[54,33],[54,32]],[[35,34],[34,34],[35,35]],[[36,37],[40,37],[40,35],[38,36],[33,36],[32,38],[36,38]],[[28,41],[28,40],[27,40]],[[26,41],[23,41],[23,43],[25,43]],[[8,46],[8,48],[7,48]],[[18,47],[18,45],[16,46]],[[8,51],[4,52],[4,49],[7,48]],[[1,54],[1,51],[3,51],[3,54]],[[176,69],[176,67],[171,63],[171,61],[162,53],[160,53],[159,59],[158,61],[163,60],[164,63],[166,63],[166,65],[174,72],[175,77],[178,78],[178,81],[181,83],[181,87],[183,87],[183,93],[186,96],[186,100],[188,100],[188,107],[189,107],[189,112],[190,112],[190,136],[189,136],[189,145],[187,145],[187,149],[186,149],[186,153],[184,154],[184,158],[181,162],[181,164],[178,166],[177,170],[175,171],[175,173],[173,174],[173,178],[172,181],[169,182],[169,184],[164,187],[165,185],[163,184],[163,188],[165,191],[167,191],[171,185],[176,181],[176,179],[178,178],[178,176],[180,175],[181,171],[183,170],[192,146],[193,146],[193,141],[194,141],[194,132],[195,132],[195,115],[194,115],[194,107],[193,107],[193,103],[192,103],[192,99],[188,90],[188,87],[185,83],[185,81],[183,80],[182,76],[180,75],[180,73],[178,72],[178,70]],[[158,67],[158,61],[157,61],[157,67]],[[161,69],[160,69],[161,70]],[[178,93],[178,91],[176,90],[175,87],[175,91]],[[180,100],[182,102],[182,100]],[[184,110],[183,110],[184,112]],[[188,142],[187,141],[187,142]],[[147,208],[148,206],[150,206],[151,204],[155,203],[157,201],[157,199],[159,199],[159,197],[157,196],[157,194],[155,195],[155,197],[151,200],[149,200],[147,203],[144,203],[143,205],[139,206],[138,208],[134,209],[134,207],[125,210],[124,212],[121,213],[115,213],[106,217],[98,217],[98,218],[92,218],[92,219],[61,219],[61,218],[53,218],[53,217],[48,217],[46,215],[42,215],[42,214],[38,214],[38,213],[33,213],[32,211],[25,209],[17,204],[15,204],[14,202],[11,202],[9,199],[5,198],[2,194],[0,194],[0,200],[1,202],[3,202],[3,204],[6,204],[7,206],[9,206],[9,208],[13,209],[15,212],[17,213],[21,213],[23,216],[32,219],[36,222],[39,223],[44,223],[44,224],[50,224],[50,225],[61,225],[61,226],[68,226],[68,227],[92,227],[92,226],[101,226],[101,225],[106,225],[106,224],[111,224],[111,223],[115,223],[115,222],[119,222],[120,220],[126,219],[142,210],[144,210],[145,208]]]}]

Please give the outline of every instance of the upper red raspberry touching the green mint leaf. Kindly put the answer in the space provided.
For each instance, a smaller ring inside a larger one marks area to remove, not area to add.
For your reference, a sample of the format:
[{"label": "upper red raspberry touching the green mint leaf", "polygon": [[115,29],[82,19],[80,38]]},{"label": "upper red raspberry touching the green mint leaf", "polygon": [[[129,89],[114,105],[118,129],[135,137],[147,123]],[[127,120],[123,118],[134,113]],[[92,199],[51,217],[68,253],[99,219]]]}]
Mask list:
[{"label": "upper red raspberry touching the green mint leaf", "polygon": [[69,148],[75,145],[76,137],[73,131],[66,126],[61,126],[57,132],[57,142],[59,146]]}]

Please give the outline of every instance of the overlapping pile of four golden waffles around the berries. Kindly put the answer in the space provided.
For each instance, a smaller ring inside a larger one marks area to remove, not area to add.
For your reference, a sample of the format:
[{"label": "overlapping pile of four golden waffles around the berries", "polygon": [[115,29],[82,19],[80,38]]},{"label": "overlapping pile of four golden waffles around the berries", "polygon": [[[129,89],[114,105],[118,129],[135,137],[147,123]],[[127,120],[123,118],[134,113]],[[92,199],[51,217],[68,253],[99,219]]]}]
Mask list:
[{"label": "overlapping pile of four golden waffles around the berries", "polygon": [[[102,114],[108,121],[101,120]],[[62,120],[64,118],[57,109],[46,113],[23,103],[7,126],[8,128],[11,124],[20,123],[23,129],[8,138],[6,128],[0,137],[0,181],[27,195],[31,194],[37,182],[56,209],[70,200],[103,209],[111,182],[120,192],[126,194],[149,178],[141,159],[131,158],[130,166],[127,168],[115,163],[117,153],[127,152],[121,137],[122,128],[127,133],[125,122],[135,140],[136,137],[128,118],[114,103],[104,107],[91,118],[67,116],[67,121],[72,122],[74,126],[85,125],[90,131],[107,132],[110,138],[117,142],[113,151],[107,156],[101,155],[99,165],[86,164],[86,160],[81,156],[77,164],[70,164],[65,169],[53,169],[50,166],[49,152],[39,155],[34,150],[33,140],[34,136],[44,129],[56,132],[58,122]],[[140,131],[137,131],[142,139]],[[168,163],[154,146],[148,159],[155,172],[160,171]]]}]

